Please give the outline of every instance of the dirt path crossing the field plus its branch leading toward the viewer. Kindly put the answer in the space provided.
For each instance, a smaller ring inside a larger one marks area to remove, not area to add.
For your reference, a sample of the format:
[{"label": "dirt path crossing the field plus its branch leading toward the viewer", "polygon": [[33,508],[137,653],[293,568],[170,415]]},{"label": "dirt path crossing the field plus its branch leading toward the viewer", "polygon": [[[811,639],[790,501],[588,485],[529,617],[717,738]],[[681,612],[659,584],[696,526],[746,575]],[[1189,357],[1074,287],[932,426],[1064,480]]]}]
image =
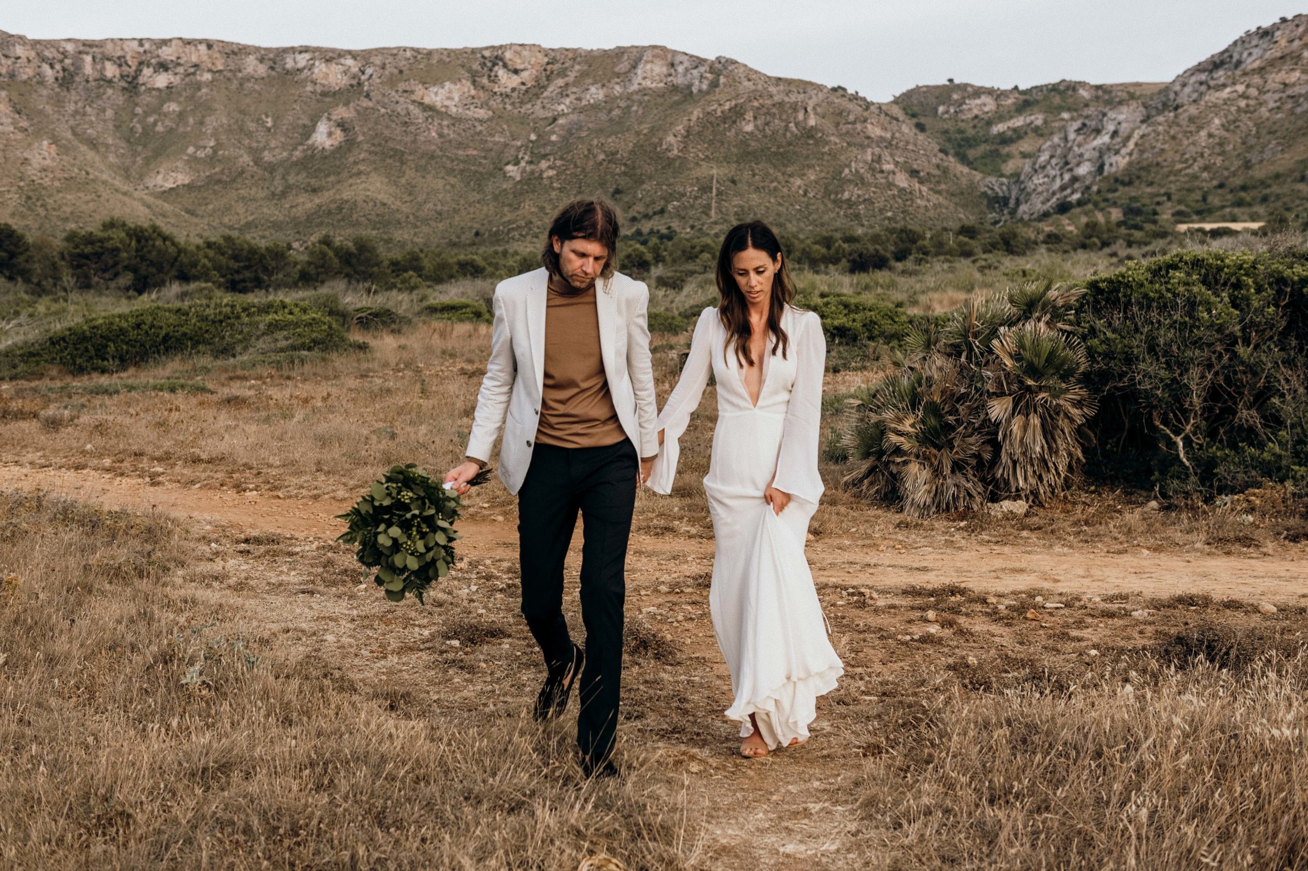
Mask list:
[{"label": "dirt path crossing the field plus its branch leading toward the viewer", "polygon": [[[348,562],[336,548],[322,544],[339,531],[340,522],[334,515],[348,507],[344,502],[190,489],[106,472],[13,463],[0,463],[0,489],[41,489],[110,507],[153,509],[191,518],[204,524],[200,530],[216,522],[238,531],[276,532],[301,539],[305,548],[335,553],[340,566]],[[473,572],[480,573],[470,572],[470,577],[493,578],[497,586],[489,587],[481,581],[480,591],[470,585],[458,592],[481,596],[477,603],[484,603],[490,617],[511,620],[515,612],[511,585],[517,518],[487,509],[473,509],[470,514],[460,526],[466,532],[462,547],[477,564]],[[978,630],[971,641],[960,636],[950,642],[954,647],[929,653],[916,643],[896,646],[887,641],[908,630],[914,619],[921,620],[914,616],[921,603],[855,613],[857,603],[846,603],[838,592],[841,587],[882,590],[886,602],[892,600],[892,591],[909,583],[948,582],[981,592],[1039,586],[1069,599],[1080,592],[1129,591],[1165,596],[1205,591],[1214,596],[1299,603],[1308,592],[1303,583],[1308,549],[1303,547],[1273,556],[1150,553],[1141,548],[1133,553],[1107,553],[1037,539],[1029,544],[990,547],[960,536],[948,541],[935,539],[926,547],[913,535],[901,531],[897,539],[875,541],[855,535],[820,536],[808,545],[833,637],[840,638],[846,663],[841,689],[846,698],[871,698],[859,693],[876,692],[878,675],[899,666],[917,663],[920,667],[925,655],[933,663],[942,663],[946,657],[965,655],[969,650],[981,657],[991,646],[1029,646],[1029,633],[1040,632],[1037,626],[1046,624],[1024,625],[1023,621],[1014,626],[968,616],[969,625]],[[578,539],[574,539],[574,549]],[[576,577],[578,556],[573,555],[569,561],[569,578]],[[714,643],[706,585],[702,583],[712,557],[713,543],[708,538],[634,535],[632,539],[628,615],[632,620],[662,624],[662,629],[675,634],[685,658],[671,667],[658,662],[632,663],[624,681],[624,709],[632,717],[630,728],[624,727],[627,752],[647,749],[657,755],[659,765],[684,773],[688,789],[706,808],[706,846],[718,867],[862,867],[867,853],[853,845],[866,844],[871,833],[849,806],[852,793],[857,794],[862,760],[858,749],[844,740],[850,734],[850,723],[859,717],[857,706],[849,701],[824,702],[814,725],[818,740],[799,751],[774,753],[749,764],[734,756],[730,726],[695,714],[722,710],[730,704],[730,681]],[[241,577],[273,578],[281,570],[277,568],[280,557],[273,562],[273,557],[262,556],[258,547],[242,545],[235,553],[224,552],[216,560],[225,572]],[[353,594],[354,581],[348,577],[337,573],[337,579],[317,589],[281,579],[255,583],[242,594],[245,608],[269,634],[294,638],[302,649],[326,660],[348,660],[358,674],[395,675],[400,670],[415,681],[430,683],[425,663],[441,650],[436,646],[437,636],[432,634],[441,632],[436,609],[415,608],[396,615],[394,607],[369,595],[371,591]],[[357,581],[357,574],[352,577]],[[574,603],[569,607],[574,608]],[[1114,625],[1118,624],[1122,621]],[[1090,630],[1080,624],[1066,625],[1090,637]],[[1118,632],[1135,637],[1134,633],[1144,629],[1133,624]],[[412,638],[396,641],[403,633]],[[455,710],[459,706],[468,710],[521,708],[534,692],[530,685],[534,651],[526,633],[519,634],[523,637],[510,638],[504,653],[496,654],[506,658],[496,660],[504,663],[502,671],[464,672],[470,675],[467,680],[455,677],[453,685],[434,687],[433,694]],[[1079,641],[1078,636],[1069,643]],[[473,677],[477,674],[484,676]],[[498,676],[492,677],[492,674]],[[678,709],[678,717],[670,715],[668,706]],[[662,725],[664,719],[672,725]],[[698,731],[685,731],[696,725]]]}]

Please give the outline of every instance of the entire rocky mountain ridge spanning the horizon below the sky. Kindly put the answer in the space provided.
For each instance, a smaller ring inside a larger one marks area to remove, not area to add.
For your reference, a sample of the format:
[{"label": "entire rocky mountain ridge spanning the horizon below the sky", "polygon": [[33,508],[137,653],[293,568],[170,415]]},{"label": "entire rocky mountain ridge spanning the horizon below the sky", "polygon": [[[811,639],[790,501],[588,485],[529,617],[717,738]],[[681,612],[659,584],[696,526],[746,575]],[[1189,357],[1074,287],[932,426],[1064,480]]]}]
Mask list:
[{"label": "entire rocky mountain ridge spanning the horizon below the sky", "polygon": [[518,242],[595,194],[650,231],[747,217],[844,230],[1039,218],[1105,191],[1177,220],[1304,211],[1308,16],[1165,85],[950,82],[884,105],[659,46],[0,33],[0,221],[29,231],[116,216],[188,234]]}]

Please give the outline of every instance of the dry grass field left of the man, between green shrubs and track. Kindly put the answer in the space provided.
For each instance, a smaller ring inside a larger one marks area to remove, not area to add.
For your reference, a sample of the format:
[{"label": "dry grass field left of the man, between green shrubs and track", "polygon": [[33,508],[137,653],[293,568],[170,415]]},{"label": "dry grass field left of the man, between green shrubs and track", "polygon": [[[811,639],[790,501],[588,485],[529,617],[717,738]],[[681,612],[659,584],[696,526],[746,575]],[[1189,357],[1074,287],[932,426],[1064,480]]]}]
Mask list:
[{"label": "dry grass field left of the man, between green shrubs and track", "polygon": [[369,354],[310,369],[174,362],[137,378],[199,382],[209,394],[65,398],[7,384],[3,395],[31,416],[8,415],[5,441],[10,455],[285,496],[345,498],[395,462],[443,471],[467,438],[489,328],[425,323],[369,341]]}]

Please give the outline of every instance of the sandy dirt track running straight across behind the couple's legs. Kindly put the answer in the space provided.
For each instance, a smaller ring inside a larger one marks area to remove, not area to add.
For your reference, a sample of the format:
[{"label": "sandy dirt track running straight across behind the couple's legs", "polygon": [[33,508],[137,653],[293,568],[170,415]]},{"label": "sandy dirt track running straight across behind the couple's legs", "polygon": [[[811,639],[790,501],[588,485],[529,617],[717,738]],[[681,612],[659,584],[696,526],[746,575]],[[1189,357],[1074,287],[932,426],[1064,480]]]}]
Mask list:
[{"label": "sandy dirt track running straight across behind the couple's legs", "polygon": [[[277,498],[266,493],[186,489],[97,471],[67,471],[0,463],[0,488],[44,489],[111,507],[156,509],[178,517],[220,521],[233,526],[294,536],[332,539],[340,530],[336,514],[348,502]],[[468,553],[517,555],[515,517],[470,513],[460,530]],[[1284,553],[1248,556],[1129,553],[1049,547],[1048,541],[1023,545],[964,544],[920,545],[912,534],[899,540],[869,541],[858,536],[823,536],[808,545],[819,583],[899,587],[905,583],[961,583],[984,591],[1032,586],[1053,587],[1067,595],[1114,591],[1168,596],[1203,591],[1214,596],[1298,600],[1308,598],[1308,545]],[[713,555],[706,538],[632,536],[633,557],[675,552],[696,560]]]}]

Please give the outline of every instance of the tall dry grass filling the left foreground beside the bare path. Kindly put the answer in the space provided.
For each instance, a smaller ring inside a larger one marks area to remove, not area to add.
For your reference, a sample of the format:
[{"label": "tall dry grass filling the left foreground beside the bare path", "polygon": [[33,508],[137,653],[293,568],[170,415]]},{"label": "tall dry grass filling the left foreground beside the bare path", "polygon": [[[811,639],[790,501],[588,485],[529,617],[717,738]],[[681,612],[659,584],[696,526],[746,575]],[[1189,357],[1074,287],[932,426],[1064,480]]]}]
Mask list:
[{"label": "tall dry grass filling the left foreground beside the bare path", "polygon": [[158,518],[0,494],[0,867],[632,868],[691,800],[586,782],[560,730],[387,710],[174,581]]}]

